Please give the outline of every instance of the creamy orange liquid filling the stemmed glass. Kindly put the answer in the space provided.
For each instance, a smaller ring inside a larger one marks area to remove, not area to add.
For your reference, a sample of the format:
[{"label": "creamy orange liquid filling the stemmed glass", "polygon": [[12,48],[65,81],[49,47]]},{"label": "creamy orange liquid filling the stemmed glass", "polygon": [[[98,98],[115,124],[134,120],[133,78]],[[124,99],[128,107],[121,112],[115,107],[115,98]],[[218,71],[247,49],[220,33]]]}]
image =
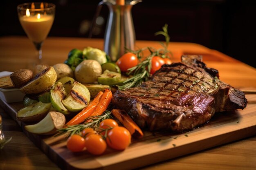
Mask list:
[{"label": "creamy orange liquid filling the stemmed glass", "polygon": [[46,39],[53,20],[53,15],[41,15],[39,19],[36,15],[31,17],[22,16],[20,17],[20,24],[32,42],[41,43]]}]

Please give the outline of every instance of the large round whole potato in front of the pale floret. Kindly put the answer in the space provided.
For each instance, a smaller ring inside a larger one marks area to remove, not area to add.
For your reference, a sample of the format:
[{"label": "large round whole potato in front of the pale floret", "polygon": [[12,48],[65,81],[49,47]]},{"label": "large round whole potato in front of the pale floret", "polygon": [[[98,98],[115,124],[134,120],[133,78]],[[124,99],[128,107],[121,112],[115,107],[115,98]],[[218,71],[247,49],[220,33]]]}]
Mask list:
[{"label": "large round whole potato in front of the pale floret", "polygon": [[97,82],[102,73],[101,64],[96,60],[84,60],[75,69],[75,79],[80,83]]}]

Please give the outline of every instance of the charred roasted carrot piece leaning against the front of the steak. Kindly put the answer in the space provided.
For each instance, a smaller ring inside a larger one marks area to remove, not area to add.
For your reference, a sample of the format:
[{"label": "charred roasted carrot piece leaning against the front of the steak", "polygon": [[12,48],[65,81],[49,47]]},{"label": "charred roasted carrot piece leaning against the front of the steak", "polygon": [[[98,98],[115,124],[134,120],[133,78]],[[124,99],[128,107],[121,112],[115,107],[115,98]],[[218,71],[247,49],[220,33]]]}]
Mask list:
[{"label": "charred roasted carrot piece leaning against the front of the steak", "polygon": [[129,130],[132,137],[141,138],[143,132],[124,110],[113,109],[111,113]]}]

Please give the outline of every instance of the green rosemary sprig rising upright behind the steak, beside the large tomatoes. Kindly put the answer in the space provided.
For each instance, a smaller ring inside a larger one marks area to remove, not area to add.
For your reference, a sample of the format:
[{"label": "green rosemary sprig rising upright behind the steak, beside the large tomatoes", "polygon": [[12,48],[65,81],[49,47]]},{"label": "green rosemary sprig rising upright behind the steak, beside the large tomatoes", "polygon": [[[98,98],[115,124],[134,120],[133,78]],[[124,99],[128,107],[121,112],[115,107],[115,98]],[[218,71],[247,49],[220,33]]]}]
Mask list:
[{"label": "green rosemary sprig rising upright behind the steak, beside the large tomatoes", "polygon": [[168,25],[165,24],[162,27],[163,31],[158,31],[155,33],[155,35],[164,35],[166,43],[164,44],[162,42],[159,42],[164,47],[164,49],[155,49],[153,47],[146,47],[143,49],[139,49],[137,51],[126,49],[127,51],[136,54],[139,61],[141,61],[141,59],[144,58],[144,51],[148,50],[150,52],[150,55],[148,55],[146,59],[140,62],[137,66],[128,69],[127,75],[132,75],[132,77],[124,81],[122,86],[118,86],[119,90],[125,90],[126,88],[136,87],[139,86],[142,82],[147,81],[148,78],[150,77],[150,70],[152,68],[152,58],[154,56],[166,58],[169,57],[167,53],[170,53],[171,56],[173,56],[171,51],[168,50],[170,36],[168,35],[167,28]]}]

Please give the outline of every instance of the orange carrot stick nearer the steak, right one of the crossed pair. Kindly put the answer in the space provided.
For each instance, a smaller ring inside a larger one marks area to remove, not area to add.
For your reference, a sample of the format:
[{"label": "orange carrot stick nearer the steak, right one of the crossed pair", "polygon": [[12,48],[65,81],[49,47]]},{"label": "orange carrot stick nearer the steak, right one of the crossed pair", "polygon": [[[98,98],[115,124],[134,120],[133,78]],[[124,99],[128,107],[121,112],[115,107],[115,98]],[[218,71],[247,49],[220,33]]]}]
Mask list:
[{"label": "orange carrot stick nearer the steak, right one of the crossed pair", "polygon": [[[99,116],[102,115],[102,113],[108,108],[108,105],[110,104],[112,99],[112,92],[106,88],[103,92],[103,95],[99,101],[99,104],[96,106],[95,110],[91,114],[91,116]],[[86,122],[90,122],[92,119],[89,119]]]}]

